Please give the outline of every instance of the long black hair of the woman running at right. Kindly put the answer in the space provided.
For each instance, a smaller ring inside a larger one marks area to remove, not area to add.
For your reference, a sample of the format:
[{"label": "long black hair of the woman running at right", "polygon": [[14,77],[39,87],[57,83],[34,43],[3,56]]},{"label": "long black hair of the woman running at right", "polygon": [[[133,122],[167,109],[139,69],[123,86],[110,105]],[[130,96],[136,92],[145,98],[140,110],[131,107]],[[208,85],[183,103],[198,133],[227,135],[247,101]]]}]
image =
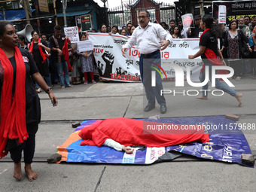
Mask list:
[{"label": "long black hair of the woman running at right", "polygon": [[206,29],[211,29],[211,35],[215,38],[222,38],[221,28],[216,23],[213,23],[213,21],[214,19],[210,15],[205,15],[202,18],[202,22],[206,23]]}]

